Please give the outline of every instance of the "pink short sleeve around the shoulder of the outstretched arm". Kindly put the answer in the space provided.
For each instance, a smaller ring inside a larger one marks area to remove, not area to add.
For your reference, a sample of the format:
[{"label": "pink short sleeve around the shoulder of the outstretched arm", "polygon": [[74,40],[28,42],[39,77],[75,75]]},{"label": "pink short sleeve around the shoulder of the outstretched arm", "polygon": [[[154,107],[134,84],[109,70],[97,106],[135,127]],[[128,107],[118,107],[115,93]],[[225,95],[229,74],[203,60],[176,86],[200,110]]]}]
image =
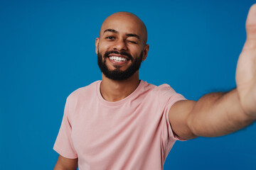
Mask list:
[{"label": "pink short sleeve around the shoulder of the outstretched arm", "polygon": [[159,86],[159,105],[161,106],[162,115],[162,130],[161,130],[161,140],[164,145],[164,157],[166,158],[169,154],[171,147],[174,145],[176,140],[182,140],[181,137],[178,137],[174,134],[171,129],[171,124],[169,121],[169,111],[171,106],[174,105],[177,101],[186,100],[181,94],[177,94],[174,89],[169,85],[163,84]]}]

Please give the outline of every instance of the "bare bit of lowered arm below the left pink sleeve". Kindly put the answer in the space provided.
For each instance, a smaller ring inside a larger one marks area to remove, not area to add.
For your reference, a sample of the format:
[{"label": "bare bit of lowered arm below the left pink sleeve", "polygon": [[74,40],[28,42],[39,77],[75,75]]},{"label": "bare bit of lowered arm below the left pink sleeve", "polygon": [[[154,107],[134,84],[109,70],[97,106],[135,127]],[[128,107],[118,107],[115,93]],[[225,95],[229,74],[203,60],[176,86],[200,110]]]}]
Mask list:
[{"label": "bare bit of lowered arm below the left pink sleeve", "polygon": [[78,158],[68,159],[59,155],[53,170],[76,170],[78,169]]}]

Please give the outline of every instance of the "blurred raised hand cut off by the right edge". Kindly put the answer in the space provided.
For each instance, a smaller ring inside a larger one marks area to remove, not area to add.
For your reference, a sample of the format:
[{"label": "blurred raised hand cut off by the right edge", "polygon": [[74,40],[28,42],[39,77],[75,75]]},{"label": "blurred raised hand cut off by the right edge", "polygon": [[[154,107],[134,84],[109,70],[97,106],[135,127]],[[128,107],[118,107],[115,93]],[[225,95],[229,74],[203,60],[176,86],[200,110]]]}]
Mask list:
[{"label": "blurred raised hand cut off by the right edge", "polygon": [[235,80],[243,110],[256,119],[256,4],[251,6],[248,13],[246,33]]}]

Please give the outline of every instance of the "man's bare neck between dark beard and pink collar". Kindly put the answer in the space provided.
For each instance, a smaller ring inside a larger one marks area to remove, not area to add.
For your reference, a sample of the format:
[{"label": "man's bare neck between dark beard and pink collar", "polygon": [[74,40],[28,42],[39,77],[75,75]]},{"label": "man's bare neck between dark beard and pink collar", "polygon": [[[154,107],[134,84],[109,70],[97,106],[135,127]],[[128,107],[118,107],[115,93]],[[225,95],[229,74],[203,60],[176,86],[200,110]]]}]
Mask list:
[{"label": "man's bare neck between dark beard and pink collar", "polygon": [[117,81],[108,79],[102,74],[100,93],[106,101],[119,101],[126,98],[139,86],[139,72],[135,72],[132,77],[126,80]]}]

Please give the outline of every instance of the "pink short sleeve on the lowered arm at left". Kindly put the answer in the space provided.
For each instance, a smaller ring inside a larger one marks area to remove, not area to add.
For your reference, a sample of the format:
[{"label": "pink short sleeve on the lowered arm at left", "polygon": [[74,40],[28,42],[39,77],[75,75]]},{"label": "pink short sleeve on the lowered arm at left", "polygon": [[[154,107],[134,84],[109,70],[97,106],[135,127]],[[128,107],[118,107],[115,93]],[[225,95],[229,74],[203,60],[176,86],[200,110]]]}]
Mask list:
[{"label": "pink short sleeve on the lowered arm at left", "polygon": [[67,98],[65,103],[63,120],[60,125],[60,130],[58,132],[57,139],[55,140],[53,149],[63,157],[75,159],[78,158],[78,154],[75,152],[71,138],[72,125],[70,120],[70,105],[72,103],[70,103],[68,99],[69,98]]}]

